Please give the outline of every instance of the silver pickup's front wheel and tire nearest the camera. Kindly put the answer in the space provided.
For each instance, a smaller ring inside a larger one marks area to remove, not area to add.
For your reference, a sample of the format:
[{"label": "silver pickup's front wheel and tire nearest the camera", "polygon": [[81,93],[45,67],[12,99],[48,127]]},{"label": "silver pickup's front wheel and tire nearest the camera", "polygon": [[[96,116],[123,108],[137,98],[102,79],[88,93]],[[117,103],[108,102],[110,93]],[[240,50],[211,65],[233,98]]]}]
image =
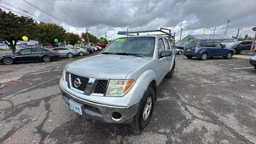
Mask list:
[{"label": "silver pickup's front wheel and tire nearest the camera", "polygon": [[[144,93],[142,99],[140,100],[138,113],[134,116],[133,123],[130,124],[136,130],[143,130],[150,122],[150,118],[152,116],[154,108],[154,96],[154,89],[149,86],[146,92]],[[148,107],[150,107],[149,110]],[[144,114],[144,111],[146,111],[147,114]]]}]

